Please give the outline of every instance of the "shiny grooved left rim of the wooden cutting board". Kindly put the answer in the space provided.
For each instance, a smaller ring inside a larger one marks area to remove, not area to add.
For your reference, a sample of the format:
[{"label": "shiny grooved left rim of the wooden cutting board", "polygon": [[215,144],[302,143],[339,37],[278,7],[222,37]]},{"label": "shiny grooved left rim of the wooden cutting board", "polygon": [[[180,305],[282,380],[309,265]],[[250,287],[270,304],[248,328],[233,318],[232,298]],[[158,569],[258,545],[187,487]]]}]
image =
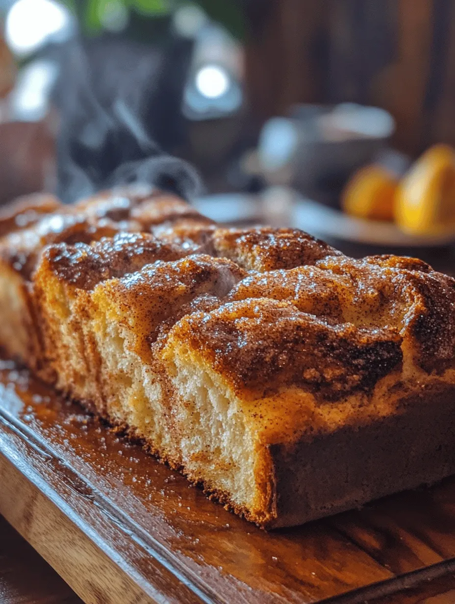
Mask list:
[{"label": "shiny grooved left rim of the wooden cutting board", "polygon": [[[135,541],[132,555],[129,537],[134,528],[123,524],[123,519],[116,515],[118,510],[109,509],[108,500],[102,498],[101,501],[97,501],[96,496],[94,498],[87,496],[88,492],[90,495],[93,494],[89,483],[79,484],[79,477],[74,474],[71,466],[55,455],[46,443],[36,440],[33,431],[27,432],[21,428],[24,426],[19,428],[14,421],[10,422],[10,418],[4,416],[0,410],[0,457],[4,457],[5,467],[8,469],[10,464],[18,478],[23,478],[26,483],[30,483],[29,488],[32,492],[40,493],[40,496],[48,501],[51,512],[54,509],[58,510],[60,518],[74,525],[80,535],[88,538],[98,551],[103,554],[108,552],[109,554],[106,555],[114,565],[113,568],[120,567],[119,570],[126,573],[135,584],[141,585],[143,593],[151,597],[150,602],[166,602],[166,604],[224,602],[218,599],[217,594],[205,593],[204,583],[193,584],[192,577],[182,573],[181,568],[174,568],[160,551],[155,550],[153,544],[141,540]],[[4,477],[0,465],[0,487],[3,483]],[[4,493],[0,490],[0,500],[2,495]],[[13,502],[13,507],[22,502],[21,497],[16,493],[11,493],[10,500]],[[0,515],[2,515],[1,506],[0,502]],[[89,514],[89,522],[87,522],[87,514]],[[7,513],[3,515],[7,517]],[[13,525],[13,522],[9,522]],[[94,528],[95,526],[97,528]],[[20,528],[18,532],[39,551],[27,535],[22,534]],[[128,553],[123,557],[122,552],[125,548]],[[145,557],[146,567],[144,564],[138,566],[138,556]],[[54,570],[59,572],[57,568]],[[59,574],[62,576],[61,573]],[[123,596],[114,601],[127,604]],[[105,600],[102,602],[104,604]]]}]

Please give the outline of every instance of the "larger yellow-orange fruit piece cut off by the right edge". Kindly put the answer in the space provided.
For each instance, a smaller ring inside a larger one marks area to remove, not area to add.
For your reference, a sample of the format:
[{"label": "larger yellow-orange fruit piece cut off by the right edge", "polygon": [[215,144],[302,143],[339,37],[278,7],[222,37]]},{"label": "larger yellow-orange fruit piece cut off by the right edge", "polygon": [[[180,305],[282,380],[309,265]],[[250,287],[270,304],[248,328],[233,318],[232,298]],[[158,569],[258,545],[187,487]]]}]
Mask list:
[{"label": "larger yellow-orange fruit piece cut off by the right edge", "polygon": [[455,150],[434,145],[411,167],[395,196],[395,222],[414,235],[455,233]]}]

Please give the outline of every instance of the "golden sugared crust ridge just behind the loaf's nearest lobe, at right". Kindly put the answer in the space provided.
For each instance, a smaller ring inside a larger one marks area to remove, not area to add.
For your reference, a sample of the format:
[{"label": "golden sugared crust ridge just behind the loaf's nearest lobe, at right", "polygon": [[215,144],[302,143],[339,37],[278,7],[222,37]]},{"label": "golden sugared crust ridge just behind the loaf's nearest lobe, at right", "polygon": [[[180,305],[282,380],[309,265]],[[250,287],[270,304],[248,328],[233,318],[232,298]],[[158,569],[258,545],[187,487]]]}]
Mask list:
[{"label": "golden sugared crust ridge just behind the loaf's nearest lobe, at right", "polygon": [[410,362],[428,373],[453,366],[455,281],[421,260],[332,256],[315,266],[250,275],[228,298],[262,297],[291,301],[332,323],[395,327]]}]

